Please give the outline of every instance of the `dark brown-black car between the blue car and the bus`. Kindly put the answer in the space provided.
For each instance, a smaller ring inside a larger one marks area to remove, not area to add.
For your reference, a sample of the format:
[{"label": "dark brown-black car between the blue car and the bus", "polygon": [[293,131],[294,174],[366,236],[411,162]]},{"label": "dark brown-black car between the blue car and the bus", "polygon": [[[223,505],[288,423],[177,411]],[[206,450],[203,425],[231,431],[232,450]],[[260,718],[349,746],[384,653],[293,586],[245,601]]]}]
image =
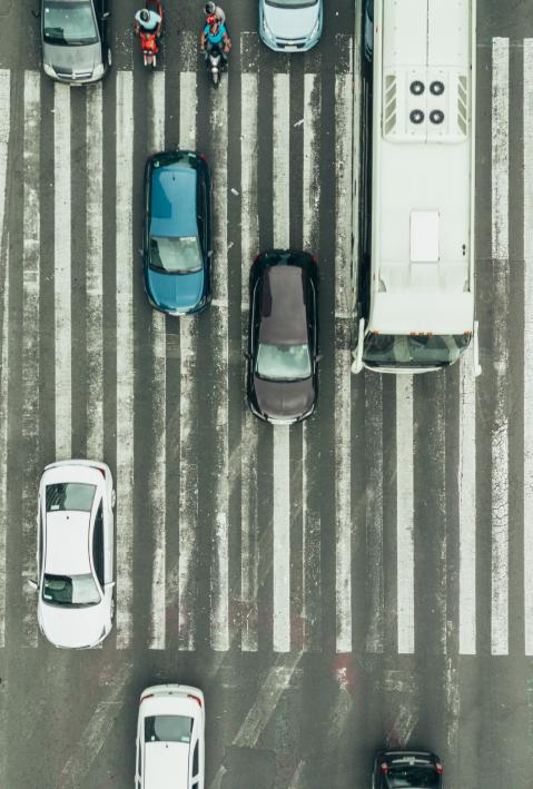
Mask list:
[{"label": "dark brown-black car between the blue car and the bus", "polygon": [[248,403],[272,424],[309,416],[317,394],[316,259],[303,252],[261,253],[250,270]]}]

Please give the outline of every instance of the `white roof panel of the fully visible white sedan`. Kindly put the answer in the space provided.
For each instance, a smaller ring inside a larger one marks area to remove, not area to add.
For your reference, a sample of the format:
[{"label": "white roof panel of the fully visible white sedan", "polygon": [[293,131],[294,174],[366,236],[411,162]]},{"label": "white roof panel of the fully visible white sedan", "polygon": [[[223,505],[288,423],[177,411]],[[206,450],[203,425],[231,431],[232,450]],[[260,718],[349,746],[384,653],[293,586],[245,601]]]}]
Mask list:
[{"label": "white roof panel of the fully visible white sedan", "polygon": [[52,575],[90,573],[90,512],[47,512],[45,572]]}]

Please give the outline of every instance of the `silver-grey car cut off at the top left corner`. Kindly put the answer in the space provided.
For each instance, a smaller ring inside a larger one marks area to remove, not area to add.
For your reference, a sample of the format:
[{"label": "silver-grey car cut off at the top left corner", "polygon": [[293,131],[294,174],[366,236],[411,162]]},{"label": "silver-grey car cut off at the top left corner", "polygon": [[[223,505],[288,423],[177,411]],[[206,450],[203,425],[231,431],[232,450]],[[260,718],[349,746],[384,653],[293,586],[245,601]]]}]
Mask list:
[{"label": "silver-grey car cut off at the top left corner", "polygon": [[42,68],[69,85],[97,82],[111,65],[106,0],[42,0]]}]

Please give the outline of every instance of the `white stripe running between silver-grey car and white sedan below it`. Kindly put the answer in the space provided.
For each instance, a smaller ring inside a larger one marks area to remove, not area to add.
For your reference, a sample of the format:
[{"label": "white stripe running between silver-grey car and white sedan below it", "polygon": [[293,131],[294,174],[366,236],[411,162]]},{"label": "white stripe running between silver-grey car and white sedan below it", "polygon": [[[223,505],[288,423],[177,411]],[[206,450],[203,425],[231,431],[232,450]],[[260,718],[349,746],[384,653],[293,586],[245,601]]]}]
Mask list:
[{"label": "white stripe running between silver-grey car and white sedan below it", "polygon": [[70,87],[53,86],[56,460],[72,456]]}]

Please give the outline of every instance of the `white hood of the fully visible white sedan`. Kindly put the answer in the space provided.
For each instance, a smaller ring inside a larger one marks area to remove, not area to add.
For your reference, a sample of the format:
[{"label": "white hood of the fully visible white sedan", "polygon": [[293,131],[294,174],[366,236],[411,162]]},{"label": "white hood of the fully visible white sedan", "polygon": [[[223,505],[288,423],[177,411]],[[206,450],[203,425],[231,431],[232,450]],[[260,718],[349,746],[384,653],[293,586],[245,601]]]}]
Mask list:
[{"label": "white hood of the fully visible white sedan", "polygon": [[42,632],[56,647],[83,649],[101,639],[108,624],[106,601],[88,608],[62,608],[40,601],[39,622]]}]

